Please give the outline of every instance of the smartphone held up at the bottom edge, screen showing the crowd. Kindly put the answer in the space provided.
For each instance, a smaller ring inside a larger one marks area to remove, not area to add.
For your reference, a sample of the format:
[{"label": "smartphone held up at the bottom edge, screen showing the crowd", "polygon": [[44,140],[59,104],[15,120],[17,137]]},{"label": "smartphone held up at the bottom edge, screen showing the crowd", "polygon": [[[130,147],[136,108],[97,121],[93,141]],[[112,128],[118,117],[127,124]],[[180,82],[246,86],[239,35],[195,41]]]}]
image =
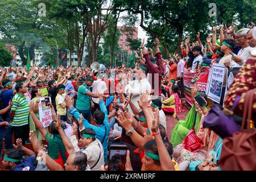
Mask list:
[{"label": "smartphone held up at the bottom edge, screen showing the crowd", "polygon": [[109,171],[125,171],[127,146],[112,144],[109,147]]}]

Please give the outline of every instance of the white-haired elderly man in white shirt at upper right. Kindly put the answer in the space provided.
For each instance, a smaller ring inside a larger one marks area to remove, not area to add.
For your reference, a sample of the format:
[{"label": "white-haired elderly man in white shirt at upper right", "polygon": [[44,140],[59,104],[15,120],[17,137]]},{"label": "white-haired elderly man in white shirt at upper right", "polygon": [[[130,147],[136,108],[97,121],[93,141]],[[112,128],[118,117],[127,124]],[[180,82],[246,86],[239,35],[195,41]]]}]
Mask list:
[{"label": "white-haired elderly man in white shirt at upper right", "polygon": [[250,28],[242,28],[241,30],[238,30],[236,34],[236,41],[238,45],[241,46],[242,48],[237,53],[237,56],[232,56],[232,59],[240,65],[245,63],[245,61],[250,57],[251,47],[247,42],[247,32],[249,30]]}]

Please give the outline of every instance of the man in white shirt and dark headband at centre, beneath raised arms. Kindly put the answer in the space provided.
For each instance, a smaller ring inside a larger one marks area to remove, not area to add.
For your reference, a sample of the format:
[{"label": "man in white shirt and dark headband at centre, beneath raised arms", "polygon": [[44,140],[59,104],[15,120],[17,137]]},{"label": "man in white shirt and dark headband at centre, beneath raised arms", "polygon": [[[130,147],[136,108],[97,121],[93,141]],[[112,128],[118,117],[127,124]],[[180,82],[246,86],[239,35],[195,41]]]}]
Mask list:
[{"label": "man in white shirt and dark headband at centre, beneath raised arms", "polygon": [[[139,95],[145,92],[151,92],[151,85],[150,82],[147,81],[146,76],[148,71],[149,69],[146,64],[140,64],[135,71],[137,74],[137,80],[129,81],[129,84],[125,86],[125,93],[127,93],[127,95],[129,93],[133,93],[131,102],[133,102],[139,111],[141,111],[137,102],[139,101]],[[127,108],[131,111],[130,105],[128,105]]]}]

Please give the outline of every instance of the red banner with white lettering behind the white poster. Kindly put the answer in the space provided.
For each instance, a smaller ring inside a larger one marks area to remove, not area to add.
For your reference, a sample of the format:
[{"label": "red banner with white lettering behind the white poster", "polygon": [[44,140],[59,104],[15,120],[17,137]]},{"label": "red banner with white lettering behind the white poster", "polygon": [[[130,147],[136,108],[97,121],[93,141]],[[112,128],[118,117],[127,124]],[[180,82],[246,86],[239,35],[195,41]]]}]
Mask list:
[{"label": "red banner with white lettering behind the white poster", "polygon": [[207,81],[208,81],[208,76],[209,76],[209,70],[210,68],[207,69],[202,69],[202,71],[198,72],[189,72],[187,69],[184,70],[184,88],[185,88],[185,99],[186,101],[192,105],[193,101],[191,98],[191,80],[199,74],[199,80],[196,82],[197,87],[199,89],[199,92],[206,92],[207,91]]}]

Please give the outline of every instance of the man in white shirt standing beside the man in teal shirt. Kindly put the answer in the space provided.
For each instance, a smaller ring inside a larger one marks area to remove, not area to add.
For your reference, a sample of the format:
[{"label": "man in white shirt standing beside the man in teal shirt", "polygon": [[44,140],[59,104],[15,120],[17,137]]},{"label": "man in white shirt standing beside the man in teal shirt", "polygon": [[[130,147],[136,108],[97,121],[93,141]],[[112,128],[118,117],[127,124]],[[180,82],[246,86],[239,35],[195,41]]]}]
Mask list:
[{"label": "man in white shirt standing beside the man in teal shirt", "polygon": [[[93,82],[92,92],[104,94],[104,92],[108,90],[105,81],[102,81],[102,78],[104,76],[102,75],[102,73],[94,73],[94,74],[96,74],[95,77],[97,78],[97,80]],[[92,102],[94,104],[92,108],[92,114],[93,114],[96,110],[100,110],[100,105],[98,105],[98,102],[100,102],[100,99],[92,97]]]}]

